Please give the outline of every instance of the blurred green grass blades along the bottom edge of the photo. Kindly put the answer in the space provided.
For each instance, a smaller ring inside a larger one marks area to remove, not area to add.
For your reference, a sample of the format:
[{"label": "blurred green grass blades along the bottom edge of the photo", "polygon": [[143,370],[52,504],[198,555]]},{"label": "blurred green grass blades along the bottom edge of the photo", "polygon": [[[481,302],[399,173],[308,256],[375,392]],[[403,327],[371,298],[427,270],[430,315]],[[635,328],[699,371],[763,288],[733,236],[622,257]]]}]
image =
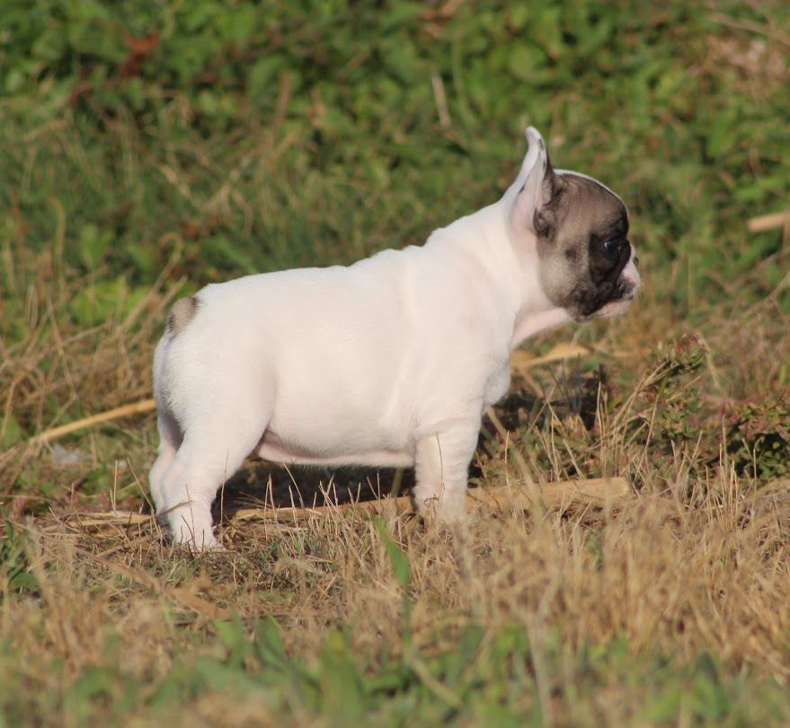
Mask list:
[{"label": "blurred green grass blades along the bottom edge of the photo", "polygon": [[[271,620],[249,628],[238,621],[217,621],[207,633],[204,640],[213,654],[176,662],[153,685],[149,676],[120,666],[120,636],[108,636],[104,659],[84,669],[63,695],[38,704],[31,705],[28,690],[46,689],[46,680],[24,680],[24,670],[12,668],[3,688],[5,718],[9,725],[47,723],[62,711],[77,724],[100,720],[122,725],[134,711],[144,723],[180,724],[184,707],[190,710],[207,698],[219,704],[209,716],[223,724],[253,716],[267,724],[276,715],[286,724],[302,725],[320,719],[336,726],[370,721],[521,726],[544,725],[559,712],[562,722],[574,725],[600,725],[613,718],[637,725],[679,719],[771,725],[788,715],[784,689],[773,680],[732,676],[705,653],[680,669],[666,655],[635,659],[622,639],[583,645],[569,661],[557,645],[558,636],[550,635],[552,644],[540,661],[555,705],[545,706],[536,695],[536,661],[528,636],[517,625],[493,634],[470,625],[457,635],[452,650],[372,662],[355,654],[351,640],[337,630],[328,632],[309,662],[288,655]],[[5,654],[3,659],[15,662],[21,656]],[[63,669],[57,663],[45,667],[53,673]],[[605,697],[595,697],[601,693]],[[598,701],[603,705],[596,706]],[[227,713],[220,717],[223,710]]]}]

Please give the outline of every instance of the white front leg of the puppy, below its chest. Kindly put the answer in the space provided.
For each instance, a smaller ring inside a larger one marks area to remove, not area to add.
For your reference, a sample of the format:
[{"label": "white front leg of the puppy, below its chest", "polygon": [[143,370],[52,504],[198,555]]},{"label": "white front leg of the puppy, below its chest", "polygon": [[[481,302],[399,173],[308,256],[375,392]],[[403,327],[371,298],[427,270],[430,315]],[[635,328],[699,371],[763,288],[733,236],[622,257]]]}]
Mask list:
[{"label": "white front leg of the puppy, below its chest", "polygon": [[417,441],[414,504],[444,522],[464,516],[469,461],[475,453],[480,418],[453,420]]}]

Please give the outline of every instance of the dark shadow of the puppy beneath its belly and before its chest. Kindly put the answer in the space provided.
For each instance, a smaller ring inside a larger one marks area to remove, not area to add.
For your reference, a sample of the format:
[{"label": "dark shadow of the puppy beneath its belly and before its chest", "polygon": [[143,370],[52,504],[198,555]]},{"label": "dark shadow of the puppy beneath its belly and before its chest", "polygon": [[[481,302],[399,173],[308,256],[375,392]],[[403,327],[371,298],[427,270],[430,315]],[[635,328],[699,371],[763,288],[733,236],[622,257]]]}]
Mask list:
[{"label": "dark shadow of the puppy beneath its belly and before its chest", "polygon": [[[559,417],[581,417],[585,427],[592,429],[596,423],[599,387],[604,382],[603,372],[585,376],[573,386],[561,388],[564,396],[550,400],[523,389],[513,391],[493,408],[498,423],[484,417],[469,477],[474,480],[483,475],[491,443],[502,436],[496,425],[502,425],[508,432],[540,427],[549,413],[553,413]],[[250,507],[319,507],[376,500],[390,494],[403,496],[410,493],[413,485],[413,469],[317,468],[249,460],[226,481],[214,503],[214,517],[228,518]]]}]

